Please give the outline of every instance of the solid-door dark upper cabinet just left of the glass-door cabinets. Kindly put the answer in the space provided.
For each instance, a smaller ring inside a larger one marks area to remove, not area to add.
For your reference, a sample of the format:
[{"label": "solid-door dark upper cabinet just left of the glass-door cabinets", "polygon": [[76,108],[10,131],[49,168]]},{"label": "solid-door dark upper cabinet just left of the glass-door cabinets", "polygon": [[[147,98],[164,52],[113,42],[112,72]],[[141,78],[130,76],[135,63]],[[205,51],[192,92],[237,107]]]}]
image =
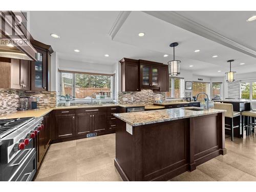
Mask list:
[{"label": "solid-door dark upper cabinet just left of the glass-door cabinets", "polygon": [[123,58],[121,63],[121,91],[140,91],[139,62]]}]

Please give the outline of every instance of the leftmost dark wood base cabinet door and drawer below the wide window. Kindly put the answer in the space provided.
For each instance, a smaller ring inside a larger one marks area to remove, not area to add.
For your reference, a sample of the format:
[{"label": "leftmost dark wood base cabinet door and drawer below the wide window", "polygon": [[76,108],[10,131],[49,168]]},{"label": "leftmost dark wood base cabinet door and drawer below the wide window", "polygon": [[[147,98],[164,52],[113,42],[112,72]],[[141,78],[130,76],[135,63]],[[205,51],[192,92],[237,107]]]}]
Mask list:
[{"label": "leftmost dark wood base cabinet door and drawer below the wide window", "polygon": [[75,136],[75,110],[55,111],[55,138],[70,138]]}]

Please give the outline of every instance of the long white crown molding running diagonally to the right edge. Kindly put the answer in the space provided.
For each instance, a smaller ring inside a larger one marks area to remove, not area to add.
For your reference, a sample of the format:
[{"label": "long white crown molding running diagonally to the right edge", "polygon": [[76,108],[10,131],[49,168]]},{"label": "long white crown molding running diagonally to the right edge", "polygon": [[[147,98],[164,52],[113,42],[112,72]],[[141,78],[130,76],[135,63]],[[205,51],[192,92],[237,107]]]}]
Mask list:
[{"label": "long white crown molding running diagonally to the right edge", "polygon": [[218,42],[221,45],[237,50],[256,58],[256,51],[249,49],[236,41],[233,41],[209,28],[206,28],[193,20],[180,15],[175,11],[143,11],[149,15],[164,20],[167,23],[176,25],[192,33],[198,34],[202,37]]}]

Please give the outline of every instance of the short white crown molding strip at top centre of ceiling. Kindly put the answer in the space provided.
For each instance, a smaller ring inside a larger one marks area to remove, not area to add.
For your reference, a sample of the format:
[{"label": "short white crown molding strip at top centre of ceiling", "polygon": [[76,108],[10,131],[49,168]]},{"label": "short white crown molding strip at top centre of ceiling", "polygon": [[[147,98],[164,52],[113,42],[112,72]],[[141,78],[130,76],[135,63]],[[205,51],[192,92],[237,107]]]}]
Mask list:
[{"label": "short white crown molding strip at top centre of ceiling", "polygon": [[123,23],[125,22],[126,18],[130,15],[131,11],[120,11],[119,15],[117,16],[115,23],[110,29],[109,35],[113,40],[116,36],[119,29],[122,27]]}]

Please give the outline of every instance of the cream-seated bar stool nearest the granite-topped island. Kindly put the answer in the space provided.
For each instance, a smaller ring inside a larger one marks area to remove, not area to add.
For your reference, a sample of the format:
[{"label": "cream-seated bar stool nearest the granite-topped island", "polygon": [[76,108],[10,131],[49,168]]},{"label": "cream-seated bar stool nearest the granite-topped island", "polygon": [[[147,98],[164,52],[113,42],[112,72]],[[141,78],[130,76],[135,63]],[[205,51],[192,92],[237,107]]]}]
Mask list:
[{"label": "cream-seated bar stool nearest the granite-topped island", "polygon": [[226,110],[225,117],[230,118],[231,123],[226,124],[226,122],[225,122],[225,125],[230,126],[230,128],[225,127],[225,129],[231,130],[231,141],[233,141],[234,140],[234,130],[233,129],[240,126],[240,125],[233,126],[233,118],[240,116],[241,113],[233,111],[233,105],[231,103],[214,103],[214,109]]}]

